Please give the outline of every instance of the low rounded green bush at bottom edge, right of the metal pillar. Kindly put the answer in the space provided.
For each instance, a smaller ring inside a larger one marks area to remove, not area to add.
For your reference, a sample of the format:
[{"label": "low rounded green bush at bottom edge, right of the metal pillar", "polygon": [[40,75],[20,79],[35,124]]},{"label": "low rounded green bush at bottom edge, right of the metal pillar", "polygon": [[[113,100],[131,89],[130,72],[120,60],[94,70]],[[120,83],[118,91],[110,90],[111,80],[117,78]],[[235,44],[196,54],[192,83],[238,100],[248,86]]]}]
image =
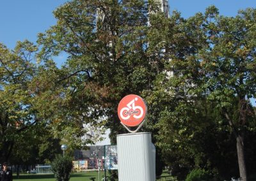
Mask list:
[{"label": "low rounded green bush at bottom edge, right of the metal pillar", "polygon": [[204,169],[194,169],[188,175],[185,181],[211,180],[211,174]]}]

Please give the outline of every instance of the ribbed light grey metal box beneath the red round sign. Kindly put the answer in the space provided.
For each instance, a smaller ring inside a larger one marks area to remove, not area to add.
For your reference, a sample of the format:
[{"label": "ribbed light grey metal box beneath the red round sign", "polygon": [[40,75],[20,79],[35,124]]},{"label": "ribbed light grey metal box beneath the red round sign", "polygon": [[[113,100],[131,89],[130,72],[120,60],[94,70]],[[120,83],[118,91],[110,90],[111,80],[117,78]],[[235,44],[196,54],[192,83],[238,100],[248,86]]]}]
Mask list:
[{"label": "ribbed light grey metal box beneath the red round sign", "polygon": [[156,180],[150,133],[119,134],[117,152],[119,181]]}]

